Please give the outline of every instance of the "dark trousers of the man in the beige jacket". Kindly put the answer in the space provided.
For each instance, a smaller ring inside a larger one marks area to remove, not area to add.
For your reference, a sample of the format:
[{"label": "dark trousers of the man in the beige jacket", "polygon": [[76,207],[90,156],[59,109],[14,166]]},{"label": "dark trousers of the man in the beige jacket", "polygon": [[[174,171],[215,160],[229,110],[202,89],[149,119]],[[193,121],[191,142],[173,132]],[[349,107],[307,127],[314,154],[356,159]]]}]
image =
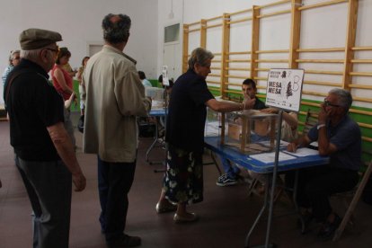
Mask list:
[{"label": "dark trousers of the man in the beige jacket", "polygon": [[128,192],[132,186],[136,161],[111,163],[98,160],[98,191],[101,203],[100,223],[106,241],[123,235],[128,212]]}]

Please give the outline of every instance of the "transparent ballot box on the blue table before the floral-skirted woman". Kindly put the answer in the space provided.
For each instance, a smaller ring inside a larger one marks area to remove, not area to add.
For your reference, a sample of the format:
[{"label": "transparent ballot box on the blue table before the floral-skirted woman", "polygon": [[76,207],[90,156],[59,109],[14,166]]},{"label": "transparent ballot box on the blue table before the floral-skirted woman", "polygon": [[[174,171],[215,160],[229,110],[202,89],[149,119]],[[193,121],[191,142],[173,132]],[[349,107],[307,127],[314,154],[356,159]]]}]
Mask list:
[{"label": "transparent ballot box on the blue table before the floral-skirted woman", "polygon": [[221,114],[221,144],[235,146],[244,154],[274,149],[278,114],[242,111]]}]

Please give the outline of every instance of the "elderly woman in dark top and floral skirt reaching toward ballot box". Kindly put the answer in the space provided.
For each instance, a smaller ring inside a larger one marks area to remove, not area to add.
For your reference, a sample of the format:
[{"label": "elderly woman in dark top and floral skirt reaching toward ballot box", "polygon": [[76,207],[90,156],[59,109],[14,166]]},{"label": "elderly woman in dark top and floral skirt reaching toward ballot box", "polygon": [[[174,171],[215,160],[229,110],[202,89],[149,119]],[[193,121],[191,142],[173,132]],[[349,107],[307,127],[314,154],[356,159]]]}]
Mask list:
[{"label": "elderly woman in dark top and floral skirt reaching toward ballot box", "polygon": [[186,205],[203,200],[202,153],[207,106],[213,111],[242,111],[252,109],[255,102],[255,99],[243,103],[217,102],[206,83],[213,57],[206,49],[194,49],[189,70],[176,80],[171,93],[165,134],[167,170],[155,209],[157,213],[177,210],[173,217],[176,223],[198,219],[196,214],[186,211]]}]

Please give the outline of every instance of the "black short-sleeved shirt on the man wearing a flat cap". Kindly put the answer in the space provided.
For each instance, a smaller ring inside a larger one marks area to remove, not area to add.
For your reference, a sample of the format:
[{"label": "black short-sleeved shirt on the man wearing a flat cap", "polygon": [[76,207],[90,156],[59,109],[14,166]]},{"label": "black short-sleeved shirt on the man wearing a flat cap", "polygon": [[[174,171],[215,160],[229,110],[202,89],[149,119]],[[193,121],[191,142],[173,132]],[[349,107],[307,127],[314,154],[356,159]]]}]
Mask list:
[{"label": "black short-sleeved shirt on the man wearing a flat cap", "polygon": [[13,79],[6,101],[10,117],[11,145],[16,155],[28,161],[54,161],[59,156],[47,127],[64,121],[64,102],[48,74],[37,64],[22,59],[8,76]]}]

